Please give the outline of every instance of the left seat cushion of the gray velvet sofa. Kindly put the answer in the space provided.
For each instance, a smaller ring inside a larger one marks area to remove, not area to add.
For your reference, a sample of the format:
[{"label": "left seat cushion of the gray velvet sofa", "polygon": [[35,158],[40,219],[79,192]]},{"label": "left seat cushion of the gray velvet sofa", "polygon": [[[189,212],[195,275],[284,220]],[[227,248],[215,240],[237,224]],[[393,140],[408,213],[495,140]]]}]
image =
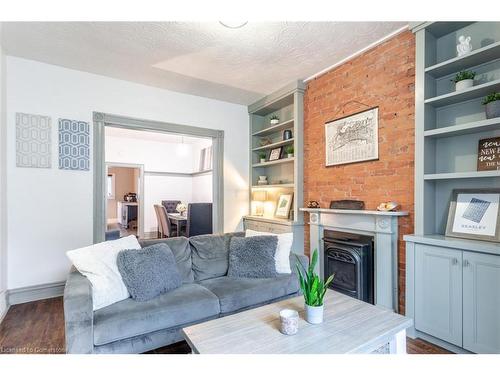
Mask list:
[{"label": "left seat cushion of the gray velvet sofa", "polygon": [[186,326],[219,312],[217,297],[198,284],[183,284],[146,302],[128,298],[94,312],[94,344]]}]

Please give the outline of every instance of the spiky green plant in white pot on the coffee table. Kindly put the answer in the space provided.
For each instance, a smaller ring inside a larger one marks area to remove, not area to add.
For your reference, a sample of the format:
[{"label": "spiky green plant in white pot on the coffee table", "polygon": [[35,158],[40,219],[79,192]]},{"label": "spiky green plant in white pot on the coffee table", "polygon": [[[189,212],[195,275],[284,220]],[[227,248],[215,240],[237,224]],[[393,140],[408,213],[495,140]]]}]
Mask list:
[{"label": "spiky green plant in white pot on the coffee table", "polygon": [[325,297],[328,285],[330,285],[334,277],[334,275],[330,275],[325,282],[321,281],[319,276],[314,272],[317,262],[318,249],[314,249],[307,270],[297,257],[297,272],[300,289],[304,295],[306,320],[311,324],[320,324],[323,322],[323,298]]}]

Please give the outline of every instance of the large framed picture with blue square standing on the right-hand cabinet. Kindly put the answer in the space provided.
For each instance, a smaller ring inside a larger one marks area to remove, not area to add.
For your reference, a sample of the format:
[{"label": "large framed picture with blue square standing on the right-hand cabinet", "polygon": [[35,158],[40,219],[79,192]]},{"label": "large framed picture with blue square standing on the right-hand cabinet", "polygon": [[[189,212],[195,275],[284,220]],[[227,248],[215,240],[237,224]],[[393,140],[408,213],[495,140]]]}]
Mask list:
[{"label": "large framed picture with blue square standing on the right-hand cabinet", "polygon": [[500,242],[500,189],[455,189],[446,236]]}]

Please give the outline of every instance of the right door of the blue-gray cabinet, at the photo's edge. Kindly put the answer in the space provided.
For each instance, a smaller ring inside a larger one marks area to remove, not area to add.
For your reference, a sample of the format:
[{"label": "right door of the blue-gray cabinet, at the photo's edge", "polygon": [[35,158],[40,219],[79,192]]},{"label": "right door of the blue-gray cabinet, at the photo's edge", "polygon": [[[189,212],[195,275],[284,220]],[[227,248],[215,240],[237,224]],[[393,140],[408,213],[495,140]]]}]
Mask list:
[{"label": "right door of the blue-gray cabinet, at the photo's edge", "polygon": [[500,256],[464,251],[464,348],[500,353]]}]

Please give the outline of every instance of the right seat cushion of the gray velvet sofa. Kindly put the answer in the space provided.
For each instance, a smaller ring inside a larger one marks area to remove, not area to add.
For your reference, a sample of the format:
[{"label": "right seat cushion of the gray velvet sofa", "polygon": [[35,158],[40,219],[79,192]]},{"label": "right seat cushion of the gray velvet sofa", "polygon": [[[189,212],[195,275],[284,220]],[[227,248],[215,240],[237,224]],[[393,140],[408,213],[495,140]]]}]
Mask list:
[{"label": "right seat cushion of the gray velvet sofa", "polygon": [[270,279],[235,279],[227,276],[200,281],[219,297],[222,314],[259,305],[296,293],[299,282],[295,273]]}]

